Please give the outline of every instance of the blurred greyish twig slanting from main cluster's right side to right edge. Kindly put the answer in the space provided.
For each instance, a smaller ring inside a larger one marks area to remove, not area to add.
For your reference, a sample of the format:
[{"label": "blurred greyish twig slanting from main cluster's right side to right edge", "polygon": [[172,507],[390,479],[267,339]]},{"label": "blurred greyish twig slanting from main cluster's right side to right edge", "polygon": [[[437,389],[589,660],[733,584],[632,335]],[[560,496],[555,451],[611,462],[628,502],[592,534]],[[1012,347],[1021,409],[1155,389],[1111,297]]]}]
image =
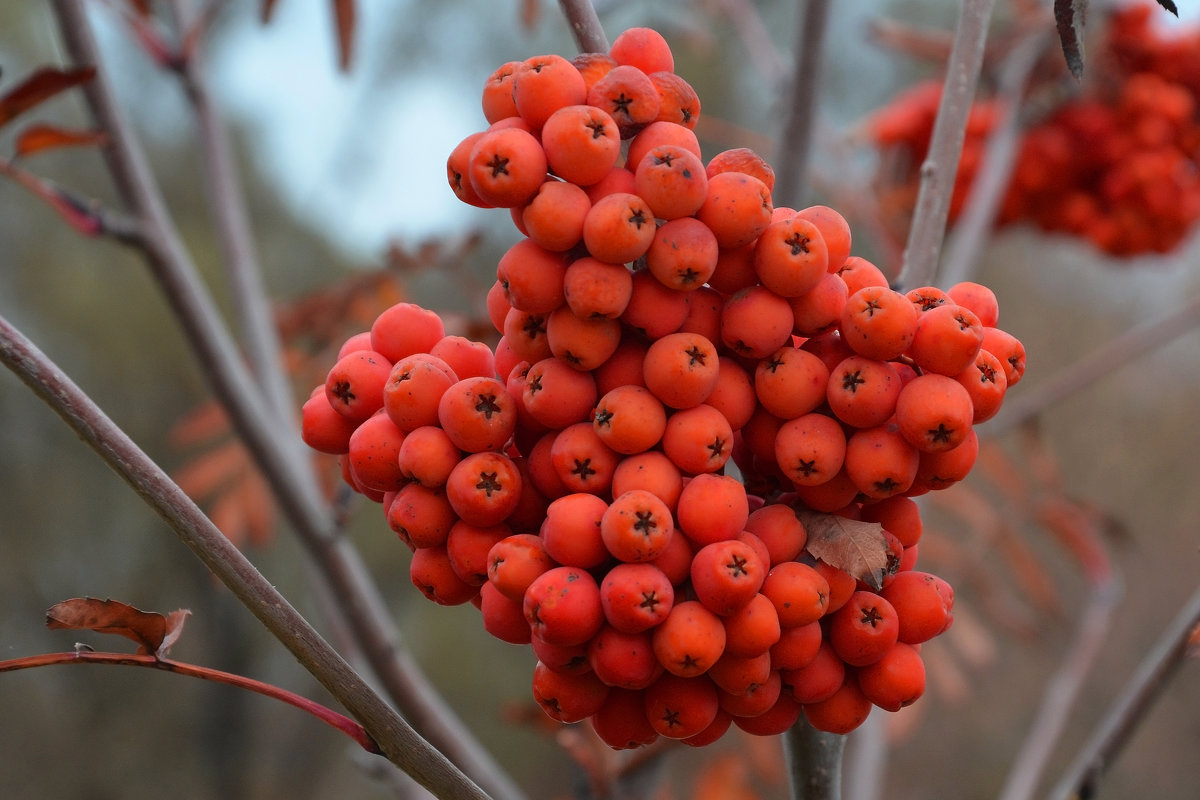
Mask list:
[{"label": "blurred greyish twig slanting from main cluster's right side to right edge", "polygon": [[1045,409],[1076,395],[1134,359],[1156,350],[1200,325],[1200,296],[1182,308],[1132,327],[1028,391],[1022,391],[988,422],[989,435],[1001,435]]}]

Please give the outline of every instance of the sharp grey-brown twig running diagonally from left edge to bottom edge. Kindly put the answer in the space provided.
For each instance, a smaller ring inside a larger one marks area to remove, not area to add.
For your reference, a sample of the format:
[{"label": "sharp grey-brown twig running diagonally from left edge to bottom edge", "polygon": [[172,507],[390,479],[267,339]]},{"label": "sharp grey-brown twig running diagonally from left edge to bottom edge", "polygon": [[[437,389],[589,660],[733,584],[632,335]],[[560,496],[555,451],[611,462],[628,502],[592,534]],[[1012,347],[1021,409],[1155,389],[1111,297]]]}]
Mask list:
[{"label": "sharp grey-brown twig running diagonally from left edge to bottom edge", "polygon": [[384,703],[162,468],[2,317],[0,361],[167,522],[296,661],[362,724],[390,762],[438,796],[487,796]]}]

